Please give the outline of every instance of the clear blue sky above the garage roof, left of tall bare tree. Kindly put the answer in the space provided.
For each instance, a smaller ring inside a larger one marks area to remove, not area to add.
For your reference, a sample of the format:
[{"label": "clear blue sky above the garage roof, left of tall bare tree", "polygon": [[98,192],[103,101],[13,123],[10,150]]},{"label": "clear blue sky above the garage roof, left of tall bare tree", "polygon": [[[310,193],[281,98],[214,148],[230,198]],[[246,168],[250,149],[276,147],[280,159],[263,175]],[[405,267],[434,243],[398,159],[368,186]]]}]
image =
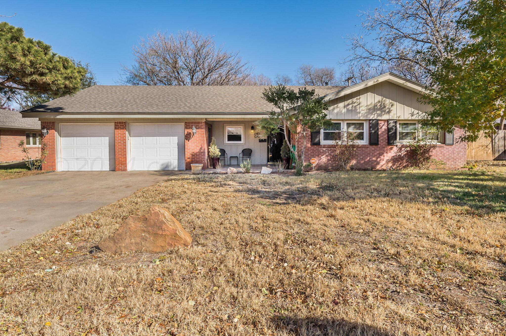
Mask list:
[{"label": "clear blue sky above the garage roof, left of tall bare tree", "polygon": [[88,62],[100,84],[114,84],[132,46],[156,30],[197,30],[273,78],[301,64],[333,66],[348,55],[360,10],[378,1],[10,1],[0,14],[55,52]]}]

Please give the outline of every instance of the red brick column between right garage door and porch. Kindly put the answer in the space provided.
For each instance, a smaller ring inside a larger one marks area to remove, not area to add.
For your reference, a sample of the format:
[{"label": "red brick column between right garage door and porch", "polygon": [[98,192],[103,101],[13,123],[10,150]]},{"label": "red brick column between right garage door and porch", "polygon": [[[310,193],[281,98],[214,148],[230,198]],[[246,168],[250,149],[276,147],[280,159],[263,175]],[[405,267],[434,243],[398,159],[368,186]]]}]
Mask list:
[{"label": "red brick column between right garage door and porch", "polygon": [[[197,133],[193,135],[192,127]],[[208,167],[207,126],[204,121],[185,122],[185,169],[190,170],[192,163],[202,163],[202,169]]]}]

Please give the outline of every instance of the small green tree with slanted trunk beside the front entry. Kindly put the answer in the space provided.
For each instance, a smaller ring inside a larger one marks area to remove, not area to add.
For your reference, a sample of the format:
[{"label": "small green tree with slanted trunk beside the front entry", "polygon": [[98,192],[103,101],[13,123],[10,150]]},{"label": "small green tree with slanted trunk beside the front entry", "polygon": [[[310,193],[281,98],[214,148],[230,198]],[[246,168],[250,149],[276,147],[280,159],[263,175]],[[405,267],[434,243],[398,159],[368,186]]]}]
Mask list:
[{"label": "small green tree with slanted trunk beside the front entry", "polygon": [[[308,134],[311,131],[330,125],[327,119],[327,104],[320,99],[314,89],[300,88],[297,92],[284,85],[270,86],[263,92],[263,98],[274,105],[268,118],[262,118],[258,125],[266,134],[284,131],[284,139],[296,159],[296,166],[304,165],[304,149]],[[287,131],[291,132],[291,139]],[[293,145],[303,139],[300,150],[294,150]],[[302,170],[300,170],[302,171]]]}]

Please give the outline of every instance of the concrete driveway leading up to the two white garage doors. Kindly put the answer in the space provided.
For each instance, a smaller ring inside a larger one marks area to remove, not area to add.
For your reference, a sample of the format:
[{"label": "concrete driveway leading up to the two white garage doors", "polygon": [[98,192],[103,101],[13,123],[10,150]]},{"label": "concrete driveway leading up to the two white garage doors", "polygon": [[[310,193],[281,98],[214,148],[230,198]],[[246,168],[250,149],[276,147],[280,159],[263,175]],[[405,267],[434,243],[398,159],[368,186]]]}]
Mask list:
[{"label": "concrete driveway leading up to the two white garage doors", "polygon": [[55,172],[0,181],[0,251],[184,172]]}]

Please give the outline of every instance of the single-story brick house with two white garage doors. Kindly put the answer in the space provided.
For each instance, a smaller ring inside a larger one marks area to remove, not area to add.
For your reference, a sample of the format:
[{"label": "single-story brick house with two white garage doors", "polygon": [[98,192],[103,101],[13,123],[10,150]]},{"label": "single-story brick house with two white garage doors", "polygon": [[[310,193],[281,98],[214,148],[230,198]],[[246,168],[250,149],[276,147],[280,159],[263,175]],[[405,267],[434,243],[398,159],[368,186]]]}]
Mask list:
[{"label": "single-story brick house with two white garage doors", "polygon": [[[297,89],[298,87],[293,87]],[[413,113],[426,105],[416,98],[424,87],[387,73],[353,86],[319,86],[333,126],[311,134],[306,159],[318,168],[335,168],[332,132],[348,129],[361,139],[355,166],[402,166],[402,144],[420,134]],[[279,159],[280,135],[265,136],[255,124],[272,106],[263,86],[92,86],[22,111],[38,118],[48,156],[44,170],[184,170],[208,167],[207,146],[215,137],[228,157],[252,149],[252,164]],[[461,134],[431,135],[434,158],[448,167],[466,162]],[[299,149],[301,143],[297,144]],[[235,159],[232,162],[235,164]]]}]

